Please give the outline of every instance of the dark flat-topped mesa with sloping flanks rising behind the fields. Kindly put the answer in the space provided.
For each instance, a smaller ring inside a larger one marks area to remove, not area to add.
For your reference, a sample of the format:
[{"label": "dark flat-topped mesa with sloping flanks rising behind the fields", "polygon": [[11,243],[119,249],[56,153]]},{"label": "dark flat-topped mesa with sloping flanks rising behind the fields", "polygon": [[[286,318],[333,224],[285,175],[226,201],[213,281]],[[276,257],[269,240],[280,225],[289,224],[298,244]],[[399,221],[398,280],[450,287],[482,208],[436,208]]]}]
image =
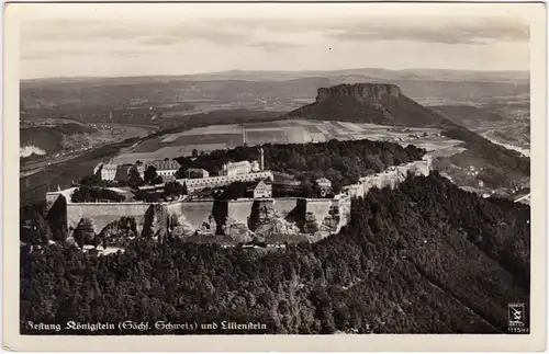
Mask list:
[{"label": "dark flat-topped mesa with sloping flanks rising behind the fields", "polygon": [[316,101],[288,113],[285,118],[343,121],[411,127],[455,127],[391,83],[354,83],[321,88]]}]

